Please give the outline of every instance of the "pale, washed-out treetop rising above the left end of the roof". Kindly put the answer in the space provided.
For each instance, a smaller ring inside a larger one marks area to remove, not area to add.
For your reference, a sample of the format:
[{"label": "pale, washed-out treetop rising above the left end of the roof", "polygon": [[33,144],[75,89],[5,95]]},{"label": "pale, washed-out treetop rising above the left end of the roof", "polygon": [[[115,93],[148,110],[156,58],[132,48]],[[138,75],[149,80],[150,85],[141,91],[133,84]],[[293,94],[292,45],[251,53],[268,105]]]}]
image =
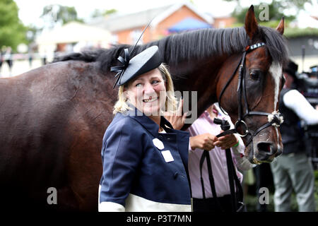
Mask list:
[{"label": "pale, washed-out treetop rising above the left end of the roof", "polygon": [[78,18],[76,9],[73,6],[45,6],[43,8],[41,18],[48,18],[48,20],[50,20],[51,22],[61,23],[62,25],[70,21],[78,21],[83,23],[83,19]]}]

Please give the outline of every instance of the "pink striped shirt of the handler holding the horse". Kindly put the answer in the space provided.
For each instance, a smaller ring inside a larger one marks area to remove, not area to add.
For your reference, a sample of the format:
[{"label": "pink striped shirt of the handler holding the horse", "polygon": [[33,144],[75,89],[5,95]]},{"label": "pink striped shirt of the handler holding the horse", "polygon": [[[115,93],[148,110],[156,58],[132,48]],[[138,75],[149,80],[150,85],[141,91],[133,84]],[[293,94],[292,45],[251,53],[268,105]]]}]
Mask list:
[{"label": "pink striped shirt of the handler holding the horse", "polygon": [[[218,118],[222,119],[223,117],[221,117],[221,115],[218,114]],[[228,117],[226,119],[228,119]],[[194,121],[194,124],[192,124],[192,126],[190,126],[189,129],[187,129],[187,131],[189,131],[190,133],[190,136],[196,136],[203,133],[211,133],[214,136],[216,136],[218,135],[218,133],[220,133],[220,130],[220,125],[213,123],[213,120],[211,119],[208,112],[204,112],[203,114],[201,114],[201,116],[198,119],[196,119],[196,121]],[[240,179],[240,182],[242,182],[243,175],[237,171],[237,161],[233,156],[233,149],[234,148],[231,148],[232,159],[235,165],[235,170],[237,172],[237,177]],[[242,143],[242,140],[240,140],[240,144],[236,147],[236,149],[236,153],[238,151],[239,153],[244,154],[245,146]],[[193,198],[203,198],[200,181],[200,158],[202,153],[203,150],[201,149],[196,148],[195,150],[192,150],[189,147],[188,168]],[[227,194],[230,194],[230,186],[228,181],[228,167],[226,164],[225,150],[221,150],[220,148],[215,147],[209,151],[209,154],[211,158],[213,178],[216,184],[216,195],[218,197],[222,197]],[[202,168],[202,177],[204,179],[204,190],[206,198],[211,198],[213,195],[211,192],[210,182],[208,180],[208,169],[206,166],[206,160],[204,160],[204,165]]]}]

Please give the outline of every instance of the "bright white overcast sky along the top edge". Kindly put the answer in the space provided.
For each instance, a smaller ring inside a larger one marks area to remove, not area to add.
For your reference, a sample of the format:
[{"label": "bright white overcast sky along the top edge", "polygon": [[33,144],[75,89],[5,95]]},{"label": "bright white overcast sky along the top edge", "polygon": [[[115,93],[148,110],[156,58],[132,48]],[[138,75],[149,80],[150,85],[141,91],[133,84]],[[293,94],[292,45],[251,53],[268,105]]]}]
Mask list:
[{"label": "bright white overcast sky along the top edge", "polygon": [[[60,4],[64,6],[74,6],[79,18],[88,20],[90,14],[98,8],[101,10],[115,8],[119,13],[133,13],[143,11],[148,8],[165,6],[177,2],[185,2],[187,0],[14,0],[19,8],[19,18],[25,25],[42,25],[40,15],[42,9],[50,4]],[[271,2],[263,0],[262,2]],[[222,0],[192,0],[192,3],[199,11],[209,13],[214,17],[228,16],[237,6],[235,1],[227,2]],[[259,0],[242,0],[243,7],[248,7],[251,4],[259,4]],[[287,11],[288,12],[288,11]],[[305,4],[305,11],[300,12],[301,26],[306,26],[312,23],[312,20],[307,20],[309,16],[318,16],[318,3],[314,1],[314,6]],[[288,13],[294,13],[289,11]],[[318,22],[317,28],[318,28]]]}]

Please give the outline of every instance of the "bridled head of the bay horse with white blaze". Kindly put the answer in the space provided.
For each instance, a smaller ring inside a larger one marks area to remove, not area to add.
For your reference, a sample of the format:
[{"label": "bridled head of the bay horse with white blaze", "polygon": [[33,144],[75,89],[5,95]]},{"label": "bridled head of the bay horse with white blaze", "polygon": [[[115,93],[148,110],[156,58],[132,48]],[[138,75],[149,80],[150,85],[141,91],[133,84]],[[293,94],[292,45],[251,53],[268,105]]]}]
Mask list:
[{"label": "bridled head of the bay horse with white blaze", "polygon": [[229,112],[252,163],[271,162],[283,152],[278,98],[285,64],[280,54],[286,56],[287,52],[281,53],[273,44],[273,40],[284,42],[283,30],[283,18],[276,31],[260,27],[251,6],[245,17],[249,44],[242,54],[229,57],[219,72],[219,78],[224,78],[218,79],[216,92],[220,107]]}]

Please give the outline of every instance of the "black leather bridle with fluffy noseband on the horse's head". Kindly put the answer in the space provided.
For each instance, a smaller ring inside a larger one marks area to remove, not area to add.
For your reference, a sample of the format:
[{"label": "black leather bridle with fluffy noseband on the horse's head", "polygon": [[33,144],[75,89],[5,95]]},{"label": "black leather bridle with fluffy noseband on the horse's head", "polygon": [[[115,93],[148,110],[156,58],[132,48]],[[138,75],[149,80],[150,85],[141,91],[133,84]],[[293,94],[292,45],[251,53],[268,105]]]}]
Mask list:
[{"label": "black leather bridle with fluffy noseband on the horse's head", "polygon": [[[247,104],[247,97],[246,97],[246,85],[245,85],[245,57],[246,54],[249,52],[252,52],[254,49],[257,49],[259,47],[263,47],[265,45],[264,42],[259,42],[257,44],[253,44],[250,46],[247,46],[245,48],[245,50],[243,51],[242,54],[242,58],[239,61],[239,64],[237,64],[235,71],[233,71],[232,76],[230,76],[228,82],[225,84],[225,86],[223,87],[223,89],[220,92],[220,97],[218,98],[218,104],[220,106],[220,109],[222,110],[222,112],[224,114],[226,114],[222,107],[221,107],[221,97],[223,95],[223,93],[225,92],[226,88],[228,88],[228,85],[230,84],[230,82],[232,81],[232,78],[234,78],[235,73],[237,71],[237,69],[239,70],[239,75],[238,75],[238,83],[237,83],[237,100],[238,100],[238,117],[237,117],[237,121],[235,122],[235,126],[234,129],[230,129],[228,131],[225,131],[223,133],[221,133],[221,136],[225,136],[226,134],[230,134],[230,133],[238,133],[240,136],[244,137],[244,136],[251,136],[249,138],[249,140],[246,143],[246,147],[249,145],[249,143],[251,143],[253,141],[254,136],[257,136],[257,134],[262,131],[263,129],[266,129],[269,126],[280,126],[283,123],[283,117],[281,116],[281,114],[276,111],[276,112],[272,112],[272,113],[267,113],[267,112],[251,112],[249,111],[249,107]],[[244,100],[244,105],[245,105],[245,112],[243,114],[242,112],[242,98]],[[268,117],[268,121],[266,124],[264,124],[263,126],[259,127],[259,129],[257,129],[256,131],[254,131],[254,133],[252,133],[247,124],[245,123],[244,119],[248,116],[252,116],[252,115],[259,115],[259,116],[266,116]],[[239,133],[239,131],[237,131],[237,129],[239,128],[239,126],[243,126],[243,133]],[[254,153],[252,153],[254,155]]]}]

